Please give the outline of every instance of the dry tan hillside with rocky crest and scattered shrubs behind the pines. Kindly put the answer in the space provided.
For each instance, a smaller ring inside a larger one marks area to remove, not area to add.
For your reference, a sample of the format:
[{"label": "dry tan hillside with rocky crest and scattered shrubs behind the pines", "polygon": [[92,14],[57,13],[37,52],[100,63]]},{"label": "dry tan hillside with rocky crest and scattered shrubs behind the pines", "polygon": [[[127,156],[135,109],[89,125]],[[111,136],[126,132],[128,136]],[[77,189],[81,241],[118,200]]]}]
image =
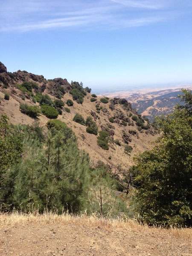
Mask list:
[{"label": "dry tan hillside with rocky crest and scattered shrubs behind the pines", "polygon": [[[34,87],[26,90],[26,87],[21,86],[23,82],[30,82]],[[83,95],[79,99],[75,99],[76,95],[74,96],[73,93],[77,91]],[[6,93],[9,94],[9,100],[4,99]],[[151,142],[157,137],[154,128],[139,116],[133,110],[131,103],[125,99],[105,99],[107,103],[102,103],[102,97],[94,96],[93,98],[89,88],[83,89],[78,82],[70,84],[67,79],[61,78],[47,80],[44,76],[20,70],[10,73],[0,63],[0,114],[6,113],[12,124],[31,125],[36,119],[41,126],[46,126],[49,118],[42,113],[37,118],[32,118],[20,111],[20,104],[23,103],[39,108],[38,99],[46,94],[52,101],[61,99],[64,102],[64,107],[60,108],[62,113],[58,115],[57,119],[73,129],[78,138],[79,148],[90,154],[90,159],[94,165],[100,160],[111,167],[121,166],[122,169],[128,169],[134,163],[134,154],[151,149]],[[91,98],[95,101],[91,102]],[[73,101],[73,106],[67,106],[68,99]],[[83,102],[78,103],[81,99]],[[70,113],[66,108],[70,109]],[[99,131],[107,131],[108,150],[99,147],[97,136],[87,133],[85,125],[73,121],[73,117],[77,113],[81,114],[84,119],[91,116]],[[133,116],[136,116],[136,119],[133,119]],[[109,118],[111,118],[111,122]],[[115,143],[116,140],[119,140],[119,143]],[[125,152],[126,145],[133,148],[132,151]]]}]

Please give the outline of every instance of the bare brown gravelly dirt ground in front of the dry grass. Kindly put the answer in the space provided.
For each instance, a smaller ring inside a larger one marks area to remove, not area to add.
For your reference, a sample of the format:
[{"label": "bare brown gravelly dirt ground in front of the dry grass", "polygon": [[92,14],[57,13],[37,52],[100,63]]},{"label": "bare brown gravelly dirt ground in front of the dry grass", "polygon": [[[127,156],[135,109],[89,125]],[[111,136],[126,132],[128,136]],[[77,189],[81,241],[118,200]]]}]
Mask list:
[{"label": "bare brown gravelly dirt ground in front of the dry grass", "polygon": [[[118,227],[119,226],[119,227]],[[189,256],[191,230],[148,228],[139,224],[86,219],[7,221],[0,219],[0,255],[19,256]]]}]

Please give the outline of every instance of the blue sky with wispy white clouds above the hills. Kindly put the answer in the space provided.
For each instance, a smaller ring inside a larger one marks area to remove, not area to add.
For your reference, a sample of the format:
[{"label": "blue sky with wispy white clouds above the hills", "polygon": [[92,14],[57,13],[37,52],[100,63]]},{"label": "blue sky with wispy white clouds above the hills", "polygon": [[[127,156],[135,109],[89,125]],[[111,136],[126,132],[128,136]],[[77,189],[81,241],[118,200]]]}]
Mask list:
[{"label": "blue sky with wispy white clouds above the hills", "polygon": [[92,90],[192,84],[192,0],[0,0],[0,61]]}]

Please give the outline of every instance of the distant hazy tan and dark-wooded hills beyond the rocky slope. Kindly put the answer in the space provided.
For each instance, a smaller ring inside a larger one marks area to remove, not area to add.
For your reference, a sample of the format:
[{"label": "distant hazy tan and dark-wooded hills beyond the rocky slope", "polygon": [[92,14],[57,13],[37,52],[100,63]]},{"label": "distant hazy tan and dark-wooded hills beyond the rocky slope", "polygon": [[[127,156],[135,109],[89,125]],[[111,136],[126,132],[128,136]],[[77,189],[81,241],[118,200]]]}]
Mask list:
[{"label": "distant hazy tan and dark-wooded hills beyond the rocky slope", "polygon": [[[183,86],[192,88],[191,85]],[[142,116],[146,116],[151,122],[154,121],[155,116],[167,115],[172,113],[176,104],[182,105],[183,102],[178,98],[181,88],[173,87],[166,89],[143,89],[131,90],[116,93],[106,93],[108,97],[125,98],[134,109]]]}]

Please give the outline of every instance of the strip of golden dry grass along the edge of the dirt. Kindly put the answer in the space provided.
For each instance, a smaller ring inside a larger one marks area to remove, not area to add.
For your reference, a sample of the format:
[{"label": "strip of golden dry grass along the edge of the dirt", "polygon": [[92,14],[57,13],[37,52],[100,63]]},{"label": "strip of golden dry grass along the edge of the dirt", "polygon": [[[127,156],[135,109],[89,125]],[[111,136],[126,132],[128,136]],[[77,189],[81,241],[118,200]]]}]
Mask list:
[{"label": "strip of golden dry grass along the edge of the dirt", "polygon": [[166,234],[169,236],[176,236],[178,238],[189,239],[192,241],[192,228],[160,228],[160,227],[148,227],[146,224],[139,224],[134,219],[110,219],[110,218],[97,218],[96,216],[87,215],[57,215],[52,213],[40,214],[0,214],[0,228],[12,227],[16,224],[76,224],[85,227],[102,227],[107,230],[124,230],[131,232],[140,232],[145,234]]}]

